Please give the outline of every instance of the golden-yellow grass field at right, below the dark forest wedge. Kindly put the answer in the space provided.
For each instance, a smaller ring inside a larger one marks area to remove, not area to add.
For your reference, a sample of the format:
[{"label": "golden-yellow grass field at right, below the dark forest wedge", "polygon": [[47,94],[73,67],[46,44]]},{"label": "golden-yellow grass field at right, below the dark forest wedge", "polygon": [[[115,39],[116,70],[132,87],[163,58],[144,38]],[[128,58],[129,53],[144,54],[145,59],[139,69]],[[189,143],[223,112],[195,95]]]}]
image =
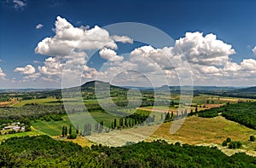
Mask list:
[{"label": "golden-yellow grass field at right, below the dark forest wedge", "polygon": [[256,148],[256,143],[248,142],[249,136],[256,135],[256,130],[249,129],[221,116],[211,119],[196,116],[189,117],[185,119],[181,128],[174,134],[170,134],[171,125],[172,122],[164,123],[154,132],[152,137],[192,145],[205,143],[221,145],[227,137],[230,137],[232,141],[242,142],[244,148],[250,151]]}]

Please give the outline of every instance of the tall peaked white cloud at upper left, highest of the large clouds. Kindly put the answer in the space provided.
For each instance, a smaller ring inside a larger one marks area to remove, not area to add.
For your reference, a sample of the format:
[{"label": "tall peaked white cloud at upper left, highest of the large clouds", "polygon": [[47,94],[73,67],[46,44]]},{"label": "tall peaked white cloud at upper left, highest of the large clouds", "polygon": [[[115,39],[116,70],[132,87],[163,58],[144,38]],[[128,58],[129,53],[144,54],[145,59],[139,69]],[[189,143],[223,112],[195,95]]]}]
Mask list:
[{"label": "tall peaked white cloud at upper left, highest of the large clouds", "polygon": [[[113,38],[114,37],[114,38]],[[91,29],[74,27],[66,19],[57,17],[55,21],[55,36],[44,38],[38,43],[35,52],[41,55],[69,55],[73,49],[102,49],[108,47],[117,49],[115,40],[130,43],[131,39],[126,37],[110,37],[108,31],[99,26]]]}]

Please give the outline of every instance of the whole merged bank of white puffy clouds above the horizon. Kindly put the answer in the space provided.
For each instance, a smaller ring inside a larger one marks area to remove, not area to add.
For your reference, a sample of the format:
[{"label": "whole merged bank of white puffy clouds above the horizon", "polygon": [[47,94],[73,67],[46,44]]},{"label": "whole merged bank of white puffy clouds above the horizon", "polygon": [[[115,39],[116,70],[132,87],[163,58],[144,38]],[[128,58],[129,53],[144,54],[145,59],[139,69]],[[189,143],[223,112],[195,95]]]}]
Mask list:
[{"label": "whole merged bank of white puffy clouds above the horizon", "polygon": [[[134,71],[154,78],[157,84],[162,81],[161,75],[179,84],[179,79],[189,77],[192,72],[198,84],[219,84],[221,78],[248,78],[256,72],[256,61],[253,59],[245,59],[241,63],[231,61],[230,55],[236,53],[235,49],[212,33],[204,36],[201,32],[187,32],[183,38],[176,40],[173,47],[139,47],[133,49],[125,61],[114,50],[118,48],[116,42],[133,43],[133,40],[126,36],[110,36],[99,26],[75,27],[58,16],[55,36],[44,38],[35,49],[36,53],[49,57],[43,66],[38,67],[40,73],[33,72],[30,78],[42,75],[42,80],[60,81],[61,75],[67,74],[72,81],[81,76],[85,80],[97,78],[111,81],[119,73]],[[87,49],[100,49],[99,55],[108,60],[101,70],[85,65],[88,61]],[[143,75],[130,79],[139,83],[145,81]]]}]

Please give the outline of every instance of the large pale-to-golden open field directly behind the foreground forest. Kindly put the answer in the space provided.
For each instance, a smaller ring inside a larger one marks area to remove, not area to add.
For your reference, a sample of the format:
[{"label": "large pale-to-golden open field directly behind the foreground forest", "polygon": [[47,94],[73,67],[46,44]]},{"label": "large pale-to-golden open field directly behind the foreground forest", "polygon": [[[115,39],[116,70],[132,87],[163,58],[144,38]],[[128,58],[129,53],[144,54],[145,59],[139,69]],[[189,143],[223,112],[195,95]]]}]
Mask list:
[{"label": "large pale-to-golden open field directly behind the foreground forest", "polygon": [[[109,133],[93,134],[86,138],[92,142],[102,143],[104,145],[122,146],[126,142],[154,141],[155,139],[164,139],[166,142],[181,142],[190,145],[216,146],[224,154],[235,154],[236,152],[245,152],[256,156],[254,148],[256,142],[249,142],[249,136],[256,136],[256,130],[249,129],[244,125],[224,119],[218,116],[207,119],[196,116],[185,119],[183,125],[176,133],[171,134],[172,122],[162,125],[140,126],[127,130],[114,130]],[[159,128],[158,128],[159,127]],[[158,129],[157,129],[158,128]],[[151,136],[148,136],[152,130],[156,130]],[[228,149],[221,146],[221,143],[230,137],[232,141],[242,142],[241,149]]]}]

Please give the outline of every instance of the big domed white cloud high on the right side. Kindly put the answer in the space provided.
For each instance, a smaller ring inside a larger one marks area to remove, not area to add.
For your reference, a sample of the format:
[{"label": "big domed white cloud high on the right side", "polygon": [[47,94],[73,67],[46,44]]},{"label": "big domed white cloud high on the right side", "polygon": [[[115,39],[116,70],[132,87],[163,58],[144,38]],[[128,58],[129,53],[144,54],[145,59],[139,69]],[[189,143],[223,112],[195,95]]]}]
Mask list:
[{"label": "big domed white cloud high on the right side", "polygon": [[218,40],[215,35],[201,32],[187,32],[184,38],[176,41],[175,47],[181,49],[189,62],[201,65],[219,66],[229,61],[235,54],[230,44]]}]

